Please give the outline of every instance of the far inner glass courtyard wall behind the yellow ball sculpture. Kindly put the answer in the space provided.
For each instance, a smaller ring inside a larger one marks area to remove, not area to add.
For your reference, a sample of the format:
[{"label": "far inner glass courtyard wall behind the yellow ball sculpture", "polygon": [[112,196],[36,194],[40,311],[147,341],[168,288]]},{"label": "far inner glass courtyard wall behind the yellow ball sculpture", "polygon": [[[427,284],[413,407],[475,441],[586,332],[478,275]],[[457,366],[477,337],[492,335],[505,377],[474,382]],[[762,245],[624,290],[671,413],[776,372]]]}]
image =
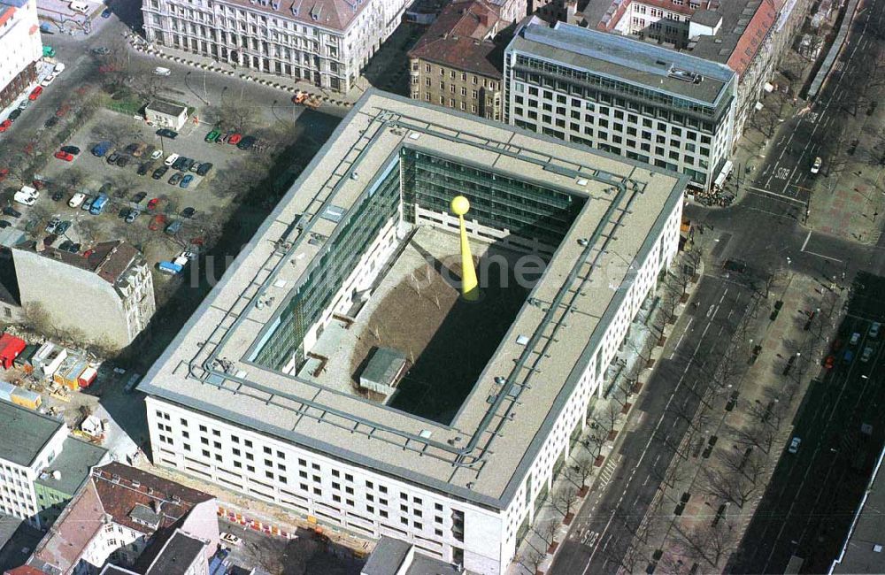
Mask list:
[{"label": "far inner glass courtyard wall behind the yellow ball sculpture", "polygon": [[417,203],[449,212],[451,198],[470,200],[470,218],[482,226],[508,229],[527,239],[556,246],[584,205],[584,199],[552,188],[516,180],[489,170],[404,148],[404,217],[413,219]]}]

